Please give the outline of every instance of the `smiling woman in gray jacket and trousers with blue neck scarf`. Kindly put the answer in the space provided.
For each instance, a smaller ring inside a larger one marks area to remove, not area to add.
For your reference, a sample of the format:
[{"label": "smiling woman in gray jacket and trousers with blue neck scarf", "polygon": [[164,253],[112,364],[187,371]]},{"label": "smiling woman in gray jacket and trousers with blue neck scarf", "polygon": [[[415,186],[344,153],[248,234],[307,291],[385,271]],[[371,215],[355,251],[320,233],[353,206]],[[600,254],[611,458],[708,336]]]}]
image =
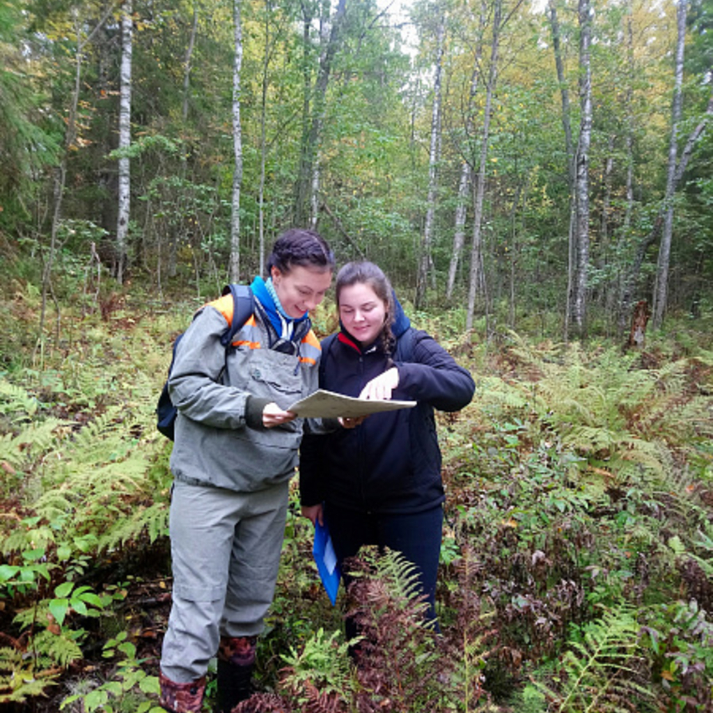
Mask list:
[{"label": "smiling woman in gray jacket and trousers with blue neck scarf", "polygon": [[254,311],[234,348],[220,342],[232,323],[227,294],[195,315],[168,381],[178,416],[160,703],[171,713],[200,711],[216,653],[217,710],[250,695],[257,635],[275,591],[305,425],[285,409],[317,389],[321,349],[308,313],[332,282],[334,255],[316,232],[289,230],[267,270],[267,280],[250,286]]}]

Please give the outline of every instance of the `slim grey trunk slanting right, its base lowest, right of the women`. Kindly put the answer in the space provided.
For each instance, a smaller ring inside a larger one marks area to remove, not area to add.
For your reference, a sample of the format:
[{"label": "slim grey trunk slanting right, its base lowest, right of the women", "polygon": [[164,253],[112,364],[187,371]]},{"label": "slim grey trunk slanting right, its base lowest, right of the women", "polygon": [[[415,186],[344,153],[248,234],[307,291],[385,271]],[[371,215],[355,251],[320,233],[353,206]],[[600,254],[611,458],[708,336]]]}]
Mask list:
[{"label": "slim grey trunk slanting right, its base lowest, right of the women", "polygon": [[498,50],[500,44],[502,0],[495,0],[493,6],[493,42],[491,45],[488,85],[486,86],[486,106],[483,109],[483,130],[481,132],[481,157],[476,175],[476,195],[473,199],[473,245],[471,246],[471,276],[468,287],[468,312],[466,314],[466,329],[473,327],[473,315],[476,309],[476,295],[482,292],[484,285],[483,253],[481,245],[481,227],[483,222],[483,197],[486,185],[486,161],[488,159],[488,139],[490,137],[491,114],[493,111],[493,94],[498,78]]}]

